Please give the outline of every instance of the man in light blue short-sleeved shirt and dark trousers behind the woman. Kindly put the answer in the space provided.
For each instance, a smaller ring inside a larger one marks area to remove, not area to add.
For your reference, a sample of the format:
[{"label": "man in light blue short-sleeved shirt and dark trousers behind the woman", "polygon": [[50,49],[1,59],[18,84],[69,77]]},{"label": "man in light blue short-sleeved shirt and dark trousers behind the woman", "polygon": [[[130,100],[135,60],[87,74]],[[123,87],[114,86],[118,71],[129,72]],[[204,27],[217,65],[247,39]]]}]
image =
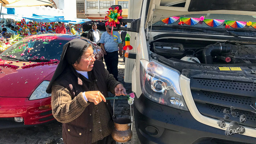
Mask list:
[{"label": "man in light blue short-sleeved shirt and dark trousers behind the woman", "polygon": [[118,81],[118,48],[120,57],[123,55],[121,39],[118,32],[113,31],[112,36],[111,29],[109,29],[108,26],[105,27],[107,31],[102,33],[100,38],[100,45],[104,53],[104,60],[107,66],[107,70]]}]

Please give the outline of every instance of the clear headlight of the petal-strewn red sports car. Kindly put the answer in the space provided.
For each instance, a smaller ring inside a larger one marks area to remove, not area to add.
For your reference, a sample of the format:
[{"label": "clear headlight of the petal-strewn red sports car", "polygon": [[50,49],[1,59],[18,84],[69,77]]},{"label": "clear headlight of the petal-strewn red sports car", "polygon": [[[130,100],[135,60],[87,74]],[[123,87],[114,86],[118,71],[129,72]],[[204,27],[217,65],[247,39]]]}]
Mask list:
[{"label": "clear headlight of the petal-strewn red sports car", "polygon": [[39,86],[37,86],[35,91],[32,93],[29,100],[42,99],[51,96],[51,94],[46,93],[46,89],[49,83],[50,81],[42,81],[42,83]]}]

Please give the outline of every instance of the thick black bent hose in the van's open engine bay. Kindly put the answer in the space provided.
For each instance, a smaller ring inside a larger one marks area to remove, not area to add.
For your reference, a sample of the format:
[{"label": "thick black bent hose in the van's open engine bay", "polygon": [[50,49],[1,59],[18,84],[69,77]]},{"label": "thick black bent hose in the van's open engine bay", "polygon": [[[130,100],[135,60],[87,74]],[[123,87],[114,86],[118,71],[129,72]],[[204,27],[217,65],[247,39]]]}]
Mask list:
[{"label": "thick black bent hose in the van's open engine bay", "polygon": [[203,49],[203,61],[205,64],[212,64],[212,54],[222,54],[229,53],[232,48],[235,47],[231,44],[216,44],[216,45],[207,45],[205,49]]}]

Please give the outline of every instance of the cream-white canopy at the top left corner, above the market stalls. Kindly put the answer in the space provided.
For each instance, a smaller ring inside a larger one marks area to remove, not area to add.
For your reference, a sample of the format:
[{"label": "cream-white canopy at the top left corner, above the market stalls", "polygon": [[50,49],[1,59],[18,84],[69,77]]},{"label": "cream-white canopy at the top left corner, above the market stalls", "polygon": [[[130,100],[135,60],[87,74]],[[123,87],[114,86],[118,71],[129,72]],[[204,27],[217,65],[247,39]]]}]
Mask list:
[{"label": "cream-white canopy at the top left corner, above the market stalls", "polygon": [[54,5],[50,0],[0,0],[0,3],[3,3],[3,6],[6,8],[24,7],[24,6],[40,6],[40,5],[53,6]]}]

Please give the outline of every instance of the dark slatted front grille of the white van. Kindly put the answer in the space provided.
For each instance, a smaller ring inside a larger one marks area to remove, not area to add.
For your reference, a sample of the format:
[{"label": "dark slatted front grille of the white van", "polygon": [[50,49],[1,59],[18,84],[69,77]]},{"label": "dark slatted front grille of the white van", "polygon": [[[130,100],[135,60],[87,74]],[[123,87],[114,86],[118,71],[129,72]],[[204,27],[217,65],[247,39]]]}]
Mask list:
[{"label": "dark slatted front grille of the white van", "polygon": [[[190,89],[198,111],[208,117],[225,121],[237,121],[240,125],[256,126],[256,112],[252,107],[256,103],[256,84],[239,81],[207,80],[190,78]],[[233,116],[230,107],[234,107]],[[224,109],[229,114],[223,113]],[[246,122],[239,122],[240,116],[246,116]],[[230,118],[224,119],[224,115]]]}]

